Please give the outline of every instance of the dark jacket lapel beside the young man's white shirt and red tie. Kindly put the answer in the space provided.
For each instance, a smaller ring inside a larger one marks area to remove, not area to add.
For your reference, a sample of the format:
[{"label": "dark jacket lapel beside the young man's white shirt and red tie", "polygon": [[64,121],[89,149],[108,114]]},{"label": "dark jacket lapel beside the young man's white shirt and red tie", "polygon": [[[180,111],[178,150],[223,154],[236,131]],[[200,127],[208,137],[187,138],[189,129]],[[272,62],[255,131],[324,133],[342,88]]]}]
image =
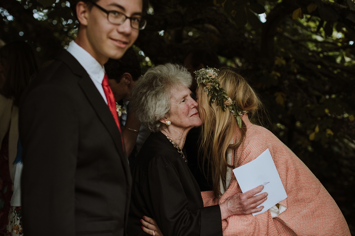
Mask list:
[{"label": "dark jacket lapel beside the young man's white shirt and red tie", "polygon": [[75,59],[75,57],[73,57],[67,51],[63,51],[62,53],[60,53],[57,59],[63,61],[71,68],[74,74],[81,77],[79,81],[80,87],[82,88],[87,99],[89,100],[97,115],[99,116],[99,119],[105,125],[107,131],[113,138],[125,168],[129,169],[127,157],[122,149],[121,134],[117,128],[116,122],[111,114],[110,109],[108,108],[100,92],[97,90],[94,83],[90,79],[86,70],[80,65],[80,63]]}]

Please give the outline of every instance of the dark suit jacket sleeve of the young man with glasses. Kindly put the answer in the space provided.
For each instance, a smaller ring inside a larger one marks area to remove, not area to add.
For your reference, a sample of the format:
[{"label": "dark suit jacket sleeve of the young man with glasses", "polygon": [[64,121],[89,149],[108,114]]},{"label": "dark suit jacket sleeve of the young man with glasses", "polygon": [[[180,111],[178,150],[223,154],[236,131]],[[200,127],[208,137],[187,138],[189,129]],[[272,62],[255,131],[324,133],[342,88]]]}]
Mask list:
[{"label": "dark suit jacket sleeve of the young man with glasses", "polygon": [[58,85],[40,85],[20,107],[21,179],[26,235],[75,235],[78,116]]}]

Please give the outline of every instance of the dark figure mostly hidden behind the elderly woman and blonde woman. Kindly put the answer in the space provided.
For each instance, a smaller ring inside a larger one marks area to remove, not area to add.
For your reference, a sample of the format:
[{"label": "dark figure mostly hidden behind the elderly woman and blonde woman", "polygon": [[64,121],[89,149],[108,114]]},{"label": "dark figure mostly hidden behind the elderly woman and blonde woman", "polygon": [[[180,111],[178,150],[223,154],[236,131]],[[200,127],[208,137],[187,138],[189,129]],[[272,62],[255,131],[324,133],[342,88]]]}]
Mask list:
[{"label": "dark figure mostly hidden behind the elderly woman and blonde woman", "polygon": [[[217,53],[211,51],[196,48],[190,51],[185,60],[184,65],[187,70],[189,70],[191,76],[195,78],[194,71],[205,68],[207,65],[215,68],[220,67],[220,61],[218,59]],[[190,90],[192,91],[191,97],[196,99],[195,91],[197,88],[196,80],[192,80]],[[198,147],[199,147],[199,136],[201,132],[201,127],[195,127],[190,130],[186,136],[185,150],[187,154],[187,166],[189,166],[193,177],[195,177],[198,186],[200,186],[201,191],[210,191],[213,189],[212,183],[212,173],[211,166],[208,166],[208,162],[204,165],[198,162]]]}]

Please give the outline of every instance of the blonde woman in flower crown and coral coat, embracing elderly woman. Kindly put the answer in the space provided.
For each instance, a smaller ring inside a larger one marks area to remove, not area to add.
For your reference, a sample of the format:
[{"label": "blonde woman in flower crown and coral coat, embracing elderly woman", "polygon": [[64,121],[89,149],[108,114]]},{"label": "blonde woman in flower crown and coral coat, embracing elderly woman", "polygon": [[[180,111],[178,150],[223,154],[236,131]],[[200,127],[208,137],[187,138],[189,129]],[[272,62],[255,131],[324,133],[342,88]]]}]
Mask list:
[{"label": "blonde woman in flower crown and coral coat, embracing elderly woman", "polygon": [[[202,120],[200,151],[202,161],[212,162],[213,176],[213,191],[201,193],[204,207],[240,193],[231,170],[254,160],[267,148],[288,196],[262,214],[222,220],[223,236],[350,236],[342,212],[313,173],[274,134],[251,122],[257,120],[262,104],[247,81],[233,68],[207,68],[196,73]],[[151,224],[144,221],[143,225],[155,230],[154,220],[146,220]]]}]

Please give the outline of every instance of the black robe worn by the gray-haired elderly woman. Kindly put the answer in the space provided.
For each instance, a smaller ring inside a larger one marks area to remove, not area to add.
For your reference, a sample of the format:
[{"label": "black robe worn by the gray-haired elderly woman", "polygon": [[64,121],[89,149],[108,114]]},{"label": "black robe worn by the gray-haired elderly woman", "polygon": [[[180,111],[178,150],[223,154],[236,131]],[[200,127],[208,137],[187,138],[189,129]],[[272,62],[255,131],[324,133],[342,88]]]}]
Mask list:
[{"label": "black robe worn by the gray-haired elderly woman", "polygon": [[129,236],[147,235],[143,215],[164,236],[222,236],[219,205],[203,207],[200,188],[178,150],[161,132],[152,133],[131,165]]}]

